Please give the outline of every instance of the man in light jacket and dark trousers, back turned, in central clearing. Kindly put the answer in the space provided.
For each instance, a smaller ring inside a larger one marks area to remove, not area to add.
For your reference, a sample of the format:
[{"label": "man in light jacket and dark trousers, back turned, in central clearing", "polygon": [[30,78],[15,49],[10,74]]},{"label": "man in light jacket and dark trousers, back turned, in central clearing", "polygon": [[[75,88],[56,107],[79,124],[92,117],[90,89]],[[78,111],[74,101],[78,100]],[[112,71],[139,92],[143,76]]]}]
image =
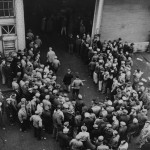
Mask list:
[{"label": "man in light jacket and dark trousers, back turned, in central clearing", "polygon": [[79,79],[79,76],[76,75],[76,79],[72,82],[72,96],[73,99],[77,99],[80,91],[80,87],[83,86],[83,82],[81,79]]}]

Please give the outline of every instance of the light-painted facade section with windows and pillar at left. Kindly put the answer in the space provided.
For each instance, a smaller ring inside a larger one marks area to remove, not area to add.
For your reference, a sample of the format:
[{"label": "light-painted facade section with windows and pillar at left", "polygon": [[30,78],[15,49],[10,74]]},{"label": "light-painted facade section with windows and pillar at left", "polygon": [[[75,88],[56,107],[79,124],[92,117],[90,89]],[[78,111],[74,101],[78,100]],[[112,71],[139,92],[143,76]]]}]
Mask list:
[{"label": "light-painted facade section with windows and pillar at left", "polygon": [[24,48],[23,0],[0,0],[0,51],[6,56]]}]

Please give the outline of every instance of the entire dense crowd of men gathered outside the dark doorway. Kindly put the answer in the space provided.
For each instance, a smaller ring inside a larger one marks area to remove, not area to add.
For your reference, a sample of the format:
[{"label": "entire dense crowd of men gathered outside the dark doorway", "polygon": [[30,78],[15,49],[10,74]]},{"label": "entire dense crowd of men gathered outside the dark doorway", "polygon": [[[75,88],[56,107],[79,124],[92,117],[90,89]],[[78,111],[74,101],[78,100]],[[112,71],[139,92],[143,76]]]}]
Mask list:
[{"label": "entire dense crowd of men gathered outside the dark doorway", "polygon": [[[89,36],[80,37],[72,43],[70,52],[75,50],[88,63],[89,75],[106,95],[105,99],[93,98],[87,106],[80,94],[84,83],[79,74],[73,79],[70,69],[64,75],[64,86],[58,84],[60,61],[49,47],[47,62],[41,64],[42,40],[29,30],[27,49],[14,53],[11,62],[2,60],[4,66],[8,63],[6,79],[14,90],[6,104],[0,92],[3,128],[6,110],[11,125],[19,123],[22,132],[33,126],[38,140],[45,139],[45,133],[52,134],[62,150],[127,150],[132,138],[138,135],[139,148],[146,150],[143,147],[150,142],[150,95],[140,80],[139,69],[131,82],[134,44],[123,43],[121,38],[101,43],[96,35],[90,46]],[[3,77],[5,74],[2,81]]]}]

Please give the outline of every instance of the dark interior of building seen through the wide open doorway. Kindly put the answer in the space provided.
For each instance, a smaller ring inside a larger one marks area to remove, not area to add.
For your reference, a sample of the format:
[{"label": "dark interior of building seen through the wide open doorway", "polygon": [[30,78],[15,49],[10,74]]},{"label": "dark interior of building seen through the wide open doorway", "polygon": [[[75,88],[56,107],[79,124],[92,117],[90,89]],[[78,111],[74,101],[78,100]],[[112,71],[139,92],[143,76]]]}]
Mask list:
[{"label": "dark interior of building seen through the wide open doorway", "polygon": [[42,18],[51,20],[48,28],[59,31],[62,17],[67,19],[69,33],[76,33],[82,20],[91,33],[95,0],[24,0],[25,26],[34,32],[41,30]]}]

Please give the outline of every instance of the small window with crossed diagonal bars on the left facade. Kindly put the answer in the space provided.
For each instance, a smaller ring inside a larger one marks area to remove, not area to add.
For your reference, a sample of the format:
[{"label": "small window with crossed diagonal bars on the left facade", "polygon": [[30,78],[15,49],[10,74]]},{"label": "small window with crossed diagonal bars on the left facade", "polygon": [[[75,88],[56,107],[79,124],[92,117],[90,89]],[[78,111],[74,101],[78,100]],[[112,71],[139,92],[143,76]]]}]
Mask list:
[{"label": "small window with crossed diagonal bars on the left facade", "polygon": [[2,26],[2,35],[16,34],[15,25]]}]

